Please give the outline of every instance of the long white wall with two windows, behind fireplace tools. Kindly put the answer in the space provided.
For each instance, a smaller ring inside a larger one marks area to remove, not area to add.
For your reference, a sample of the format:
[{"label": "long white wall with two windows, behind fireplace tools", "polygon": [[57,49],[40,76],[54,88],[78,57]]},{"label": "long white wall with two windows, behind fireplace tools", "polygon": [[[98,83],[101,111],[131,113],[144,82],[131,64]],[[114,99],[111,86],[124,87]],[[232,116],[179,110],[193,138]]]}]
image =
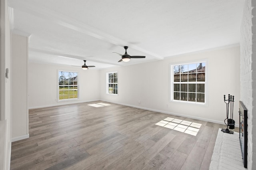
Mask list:
[{"label": "long white wall with two windows, behind fireplace tools", "polygon": [[[170,102],[170,64],[208,61],[208,105]],[[169,57],[138,65],[100,71],[100,99],[113,103],[224,124],[223,95],[234,95],[234,120],[238,126],[240,99],[240,48],[230,47]],[[106,73],[118,71],[118,95],[106,94]],[[140,101],[140,104],[138,104]]]}]

